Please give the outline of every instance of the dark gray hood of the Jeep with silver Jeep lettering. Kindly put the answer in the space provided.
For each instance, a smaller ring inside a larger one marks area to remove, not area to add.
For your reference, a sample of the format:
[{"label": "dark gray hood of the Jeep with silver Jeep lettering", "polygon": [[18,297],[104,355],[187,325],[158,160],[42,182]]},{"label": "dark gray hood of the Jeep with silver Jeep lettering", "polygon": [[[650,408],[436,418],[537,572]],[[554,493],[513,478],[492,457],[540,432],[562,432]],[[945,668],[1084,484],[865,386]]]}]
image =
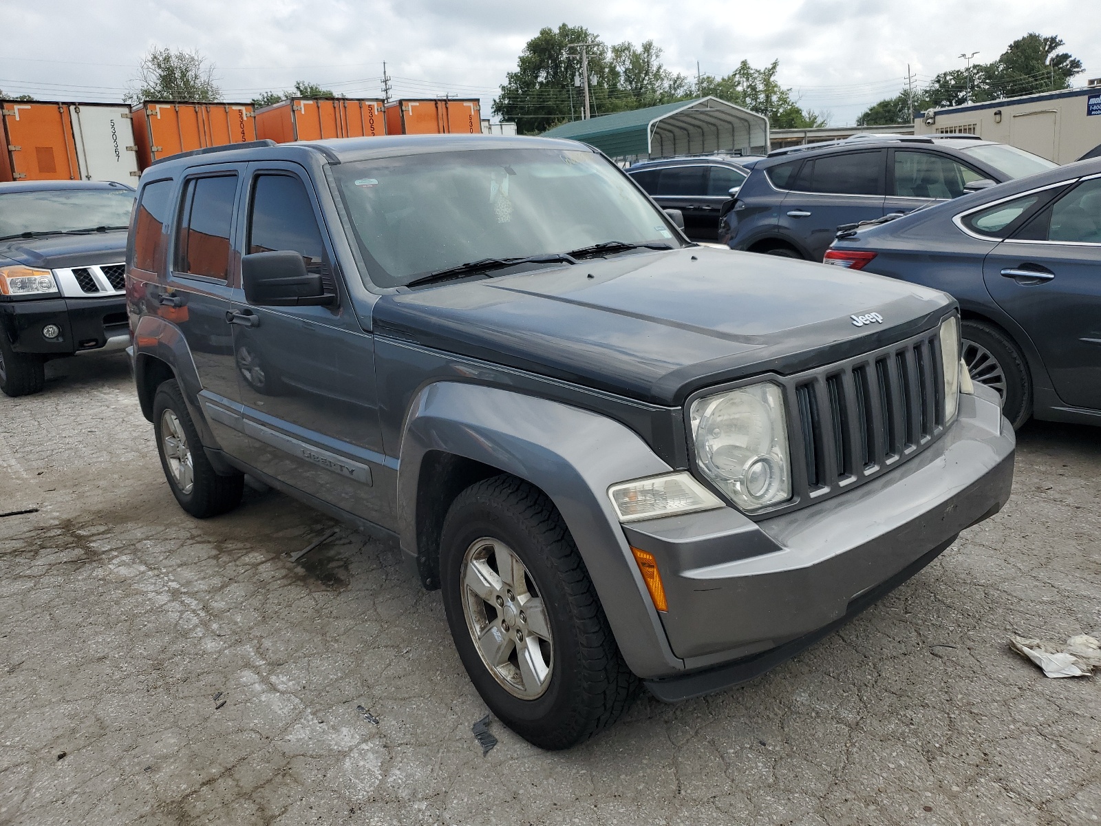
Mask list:
[{"label": "dark gray hood of the Jeep with silver Jeep lettering", "polygon": [[[688,247],[382,296],[374,332],[653,404],[794,373],[935,325],[941,292],[837,267]],[[855,326],[851,316],[883,323]]]}]

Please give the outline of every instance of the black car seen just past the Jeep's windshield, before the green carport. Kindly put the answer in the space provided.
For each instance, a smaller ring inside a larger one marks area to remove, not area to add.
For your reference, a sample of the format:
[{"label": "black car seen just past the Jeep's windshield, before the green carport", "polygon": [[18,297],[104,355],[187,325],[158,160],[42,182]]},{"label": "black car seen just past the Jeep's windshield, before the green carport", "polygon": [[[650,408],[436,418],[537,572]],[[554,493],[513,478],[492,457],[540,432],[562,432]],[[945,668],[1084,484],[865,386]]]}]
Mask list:
[{"label": "black car seen just past the Jeep's windshield, before the green carport", "polygon": [[[750,166],[756,156],[745,159]],[[679,209],[685,235],[694,241],[713,241],[719,214],[749,175],[741,157],[700,155],[643,161],[626,173],[664,209]]]}]

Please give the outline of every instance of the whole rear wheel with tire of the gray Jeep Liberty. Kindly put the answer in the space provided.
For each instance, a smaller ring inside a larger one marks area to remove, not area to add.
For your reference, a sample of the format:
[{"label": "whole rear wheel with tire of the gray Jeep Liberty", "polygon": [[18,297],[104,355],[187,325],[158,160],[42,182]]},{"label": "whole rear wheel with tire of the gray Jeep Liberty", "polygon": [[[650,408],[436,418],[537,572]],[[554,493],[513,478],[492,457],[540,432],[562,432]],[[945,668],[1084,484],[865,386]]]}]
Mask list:
[{"label": "whole rear wheel with tire of the gray Jeep Liberty", "polygon": [[153,395],[153,433],[164,478],[181,508],[207,519],[241,503],[244,476],[215,472],[175,379],[162,383]]}]

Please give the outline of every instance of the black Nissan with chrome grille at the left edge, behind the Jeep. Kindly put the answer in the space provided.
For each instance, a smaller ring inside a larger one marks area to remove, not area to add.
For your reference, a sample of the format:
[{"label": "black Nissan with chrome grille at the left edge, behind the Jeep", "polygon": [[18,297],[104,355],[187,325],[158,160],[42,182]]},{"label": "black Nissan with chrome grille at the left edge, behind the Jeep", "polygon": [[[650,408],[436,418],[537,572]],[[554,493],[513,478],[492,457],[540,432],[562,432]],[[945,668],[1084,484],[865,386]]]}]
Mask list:
[{"label": "black Nissan with chrome grille at the left edge, behind the Jeep", "polygon": [[42,390],[44,365],[124,348],[127,228],[123,184],[0,184],[0,390]]}]

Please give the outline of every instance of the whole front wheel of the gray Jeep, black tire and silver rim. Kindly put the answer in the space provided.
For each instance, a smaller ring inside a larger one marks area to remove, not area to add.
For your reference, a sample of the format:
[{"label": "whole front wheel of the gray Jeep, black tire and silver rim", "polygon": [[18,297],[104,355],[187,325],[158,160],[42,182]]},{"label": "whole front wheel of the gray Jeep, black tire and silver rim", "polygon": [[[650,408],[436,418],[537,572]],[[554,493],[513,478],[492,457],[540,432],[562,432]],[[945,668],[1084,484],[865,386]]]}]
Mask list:
[{"label": "whole front wheel of the gray Jeep, black tire and silver rim", "polygon": [[567,749],[629,707],[637,680],[542,491],[508,475],[467,488],[439,555],[455,645],[498,719],[539,748]]}]

